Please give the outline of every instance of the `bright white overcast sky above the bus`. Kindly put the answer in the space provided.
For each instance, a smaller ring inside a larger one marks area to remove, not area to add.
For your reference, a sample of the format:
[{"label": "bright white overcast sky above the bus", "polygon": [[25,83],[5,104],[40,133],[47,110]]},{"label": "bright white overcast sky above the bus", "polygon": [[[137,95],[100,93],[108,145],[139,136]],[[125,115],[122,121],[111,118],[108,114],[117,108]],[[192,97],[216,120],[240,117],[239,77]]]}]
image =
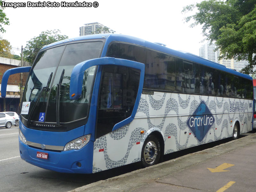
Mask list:
[{"label": "bright white overcast sky above the bus", "polygon": [[[30,2],[44,2],[30,0]],[[62,0],[63,1],[63,0]],[[85,0],[77,0],[84,2]],[[192,14],[183,14],[183,7],[201,2],[201,0],[88,0],[97,1],[94,7],[6,7],[4,12],[10,20],[1,33],[13,48],[21,49],[33,37],[42,31],[59,29],[69,38],[79,36],[79,27],[85,23],[99,22],[118,34],[142,38],[150,42],[160,42],[174,50],[199,54],[204,39],[201,26],[189,27],[184,18]],[[5,0],[9,3],[25,3],[23,0]],[[59,0],[46,0],[58,2]],[[65,2],[76,2],[66,0]],[[190,23],[191,24],[191,23]],[[13,50],[20,55],[20,51]]]}]

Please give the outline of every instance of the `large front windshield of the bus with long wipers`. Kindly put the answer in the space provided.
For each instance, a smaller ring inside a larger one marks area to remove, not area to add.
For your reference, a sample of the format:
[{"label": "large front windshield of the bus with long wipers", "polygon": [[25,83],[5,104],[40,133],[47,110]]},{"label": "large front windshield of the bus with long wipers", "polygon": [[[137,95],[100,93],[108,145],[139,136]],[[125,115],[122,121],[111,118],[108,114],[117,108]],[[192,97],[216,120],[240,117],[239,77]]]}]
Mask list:
[{"label": "large front windshield of the bus with long wipers", "polygon": [[40,52],[24,90],[23,105],[25,102],[29,107],[27,114],[21,113],[24,121],[29,119],[28,123],[33,126],[36,122],[56,124],[57,118],[60,124],[85,118],[89,111],[96,67],[85,71],[82,96],[78,100],[69,99],[70,76],[76,64],[99,58],[102,47],[102,41],[91,41]]}]

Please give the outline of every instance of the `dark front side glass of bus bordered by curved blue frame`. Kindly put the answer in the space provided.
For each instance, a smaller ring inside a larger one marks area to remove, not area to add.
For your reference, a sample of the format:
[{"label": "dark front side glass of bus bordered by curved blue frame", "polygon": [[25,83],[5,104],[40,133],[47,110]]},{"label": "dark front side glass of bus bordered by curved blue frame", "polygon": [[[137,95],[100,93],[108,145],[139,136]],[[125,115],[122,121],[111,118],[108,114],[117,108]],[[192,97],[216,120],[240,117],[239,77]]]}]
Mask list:
[{"label": "dark front side glass of bus bordered by curved blue frame", "polygon": [[140,82],[140,70],[107,65],[102,68],[96,137],[112,131],[132,114]]}]

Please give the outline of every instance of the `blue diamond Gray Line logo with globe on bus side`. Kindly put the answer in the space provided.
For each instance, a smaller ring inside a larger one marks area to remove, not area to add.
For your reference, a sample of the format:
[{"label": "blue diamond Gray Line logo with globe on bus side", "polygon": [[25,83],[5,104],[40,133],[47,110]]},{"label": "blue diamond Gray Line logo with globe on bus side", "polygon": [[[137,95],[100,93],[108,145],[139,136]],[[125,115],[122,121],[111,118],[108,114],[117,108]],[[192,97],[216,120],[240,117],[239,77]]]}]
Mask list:
[{"label": "blue diamond Gray Line logo with globe on bus side", "polygon": [[186,124],[192,134],[201,143],[211,129],[214,122],[214,116],[212,115],[204,100],[202,100],[192,116],[188,118]]}]

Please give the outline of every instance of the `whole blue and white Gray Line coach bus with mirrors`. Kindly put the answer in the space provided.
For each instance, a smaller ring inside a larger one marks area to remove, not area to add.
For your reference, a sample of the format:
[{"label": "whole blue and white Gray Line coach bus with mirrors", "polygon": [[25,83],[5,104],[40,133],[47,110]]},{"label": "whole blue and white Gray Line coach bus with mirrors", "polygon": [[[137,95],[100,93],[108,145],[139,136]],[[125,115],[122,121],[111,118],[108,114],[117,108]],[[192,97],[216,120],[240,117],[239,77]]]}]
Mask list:
[{"label": "whole blue and white Gray Line coach bus with mirrors", "polygon": [[95,173],[252,130],[252,77],[139,38],[97,34],[45,46],[29,72],[20,157]]}]

